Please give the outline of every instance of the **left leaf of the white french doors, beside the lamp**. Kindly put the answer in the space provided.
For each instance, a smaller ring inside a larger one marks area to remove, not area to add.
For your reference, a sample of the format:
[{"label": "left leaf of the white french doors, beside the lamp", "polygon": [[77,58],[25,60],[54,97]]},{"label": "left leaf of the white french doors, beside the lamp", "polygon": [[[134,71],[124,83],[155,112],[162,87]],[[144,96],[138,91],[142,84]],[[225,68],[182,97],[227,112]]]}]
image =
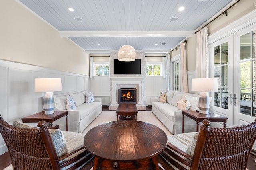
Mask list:
[{"label": "left leaf of the white french doors, beside the lamp", "polygon": [[[212,92],[211,112],[228,117],[227,126],[234,123],[234,46],[233,35],[210,44],[210,77],[218,79],[218,92]],[[215,127],[223,127],[215,123]]]}]

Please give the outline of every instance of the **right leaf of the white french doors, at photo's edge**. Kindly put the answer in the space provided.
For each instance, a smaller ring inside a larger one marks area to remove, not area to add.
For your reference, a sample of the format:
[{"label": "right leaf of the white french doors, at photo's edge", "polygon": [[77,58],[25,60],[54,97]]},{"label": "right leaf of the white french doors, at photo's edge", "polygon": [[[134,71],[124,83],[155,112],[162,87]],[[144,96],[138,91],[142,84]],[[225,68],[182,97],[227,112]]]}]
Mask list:
[{"label": "right leaf of the white french doors, at photo's edge", "polygon": [[255,119],[255,31],[254,25],[234,33],[234,124]]}]

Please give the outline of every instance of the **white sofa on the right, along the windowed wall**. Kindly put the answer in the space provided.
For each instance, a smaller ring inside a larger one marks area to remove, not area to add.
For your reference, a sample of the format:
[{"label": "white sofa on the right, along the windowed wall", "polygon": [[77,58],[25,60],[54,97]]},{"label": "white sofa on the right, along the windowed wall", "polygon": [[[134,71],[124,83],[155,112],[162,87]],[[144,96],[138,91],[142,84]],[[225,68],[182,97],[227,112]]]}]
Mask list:
[{"label": "white sofa on the right, along the windowed wall", "polygon": [[[177,102],[185,95],[191,104],[189,110],[198,109],[199,95],[184,92],[167,91],[166,103],[152,102],[152,112],[172,134],[182,133],[182,111],[178,111]],[[185,133],[196,131],[196,121],[185,116],[184,122]]]}]

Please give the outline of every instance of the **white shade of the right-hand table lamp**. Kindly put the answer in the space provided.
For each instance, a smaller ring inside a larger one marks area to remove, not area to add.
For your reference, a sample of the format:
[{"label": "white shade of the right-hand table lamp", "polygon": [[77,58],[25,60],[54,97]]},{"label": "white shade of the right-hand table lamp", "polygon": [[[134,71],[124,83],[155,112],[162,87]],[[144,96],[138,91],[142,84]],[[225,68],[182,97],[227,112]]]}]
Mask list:
[{"label": "white shade of the right-hand table lamp", "polygon": [[192,78],[191,84],[194,92],[218,92],[217,78]]}]

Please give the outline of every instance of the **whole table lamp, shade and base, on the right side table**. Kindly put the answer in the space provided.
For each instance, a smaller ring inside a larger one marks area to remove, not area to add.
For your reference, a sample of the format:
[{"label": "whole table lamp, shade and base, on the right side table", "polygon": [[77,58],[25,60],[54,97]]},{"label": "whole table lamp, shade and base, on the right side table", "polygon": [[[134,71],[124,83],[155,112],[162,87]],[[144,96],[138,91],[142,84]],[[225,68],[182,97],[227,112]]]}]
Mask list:
[{"label": "whole table lamp, shade and base, on the right side table", "polygon": [[217,78],[192,78],[191,91],[200,92],[198,108],[199,113],[208,114],[208,92],[218,92]]}]

